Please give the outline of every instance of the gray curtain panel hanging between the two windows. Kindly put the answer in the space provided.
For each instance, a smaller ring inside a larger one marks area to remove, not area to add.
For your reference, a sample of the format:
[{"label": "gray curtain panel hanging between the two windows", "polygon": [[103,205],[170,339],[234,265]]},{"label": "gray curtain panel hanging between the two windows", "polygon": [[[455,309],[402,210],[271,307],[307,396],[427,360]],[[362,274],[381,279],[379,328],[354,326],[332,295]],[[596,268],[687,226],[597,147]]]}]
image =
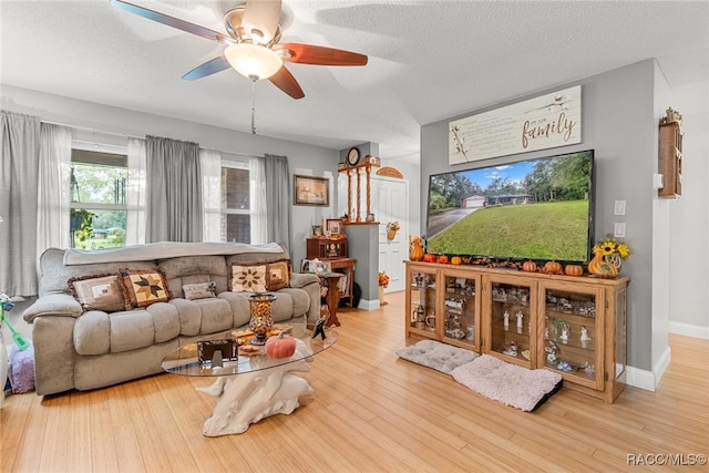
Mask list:
[{"label": "gray curtain panel hanging between the two windows", "polygon": [[199,145],[146,136],[146,243],[202,241]]}]

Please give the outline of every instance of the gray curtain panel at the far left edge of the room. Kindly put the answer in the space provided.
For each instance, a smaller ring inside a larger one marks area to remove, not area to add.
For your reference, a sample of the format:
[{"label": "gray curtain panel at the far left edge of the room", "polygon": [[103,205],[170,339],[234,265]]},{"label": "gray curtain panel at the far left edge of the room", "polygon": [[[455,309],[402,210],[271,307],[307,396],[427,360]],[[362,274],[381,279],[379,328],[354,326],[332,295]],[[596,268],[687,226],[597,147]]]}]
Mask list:
[{"label": "gray curtain panel at the far left edge of the room", "polygon": [[1,111],[0,292],[33,296],[37,278],[37,202],[41,121]]}]

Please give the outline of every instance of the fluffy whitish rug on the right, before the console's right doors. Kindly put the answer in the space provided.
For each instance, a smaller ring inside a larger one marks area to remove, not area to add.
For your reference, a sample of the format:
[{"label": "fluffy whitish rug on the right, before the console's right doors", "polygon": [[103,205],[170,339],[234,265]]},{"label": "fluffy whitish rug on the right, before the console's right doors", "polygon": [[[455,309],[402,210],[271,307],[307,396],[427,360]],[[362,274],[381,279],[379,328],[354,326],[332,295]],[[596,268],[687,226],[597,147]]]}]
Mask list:
[{"label": "fluffy whitish rug on the right, before the console's right doors", "polygon": [[562,376],[549,370],[527,370],[483,354],[455,368],[455,381],[479,394],[523,411],[534,411],[562,388]]}]

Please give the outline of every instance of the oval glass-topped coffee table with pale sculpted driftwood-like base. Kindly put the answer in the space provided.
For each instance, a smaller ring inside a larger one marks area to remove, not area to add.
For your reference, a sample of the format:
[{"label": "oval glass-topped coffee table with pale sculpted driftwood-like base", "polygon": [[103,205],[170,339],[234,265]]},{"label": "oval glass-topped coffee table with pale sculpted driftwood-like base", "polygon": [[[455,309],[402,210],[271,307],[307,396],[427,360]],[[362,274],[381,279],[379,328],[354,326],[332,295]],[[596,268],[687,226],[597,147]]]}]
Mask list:
[{"label": "oval glass-topped coffee table with pale sculpted driftwood-like base", "polygon": [[197,388],[219,398],[204,423],[204,435],[244,433],[264,418],[290,414],[301,395],[312,394],[310,384],[294,371],[309,371],[307,363],[312,357],[338,338],[337,331],[323,328],[322,322],[316,327],[315,332],[305,323],[274,327],[271,333],[282,329],[296,339],[290,358],[269,358],[264,346],[250,343],[253,337],[245,330],[181,347],[167,353],[161,366],[175,374],[216,377],[209,387]]}]

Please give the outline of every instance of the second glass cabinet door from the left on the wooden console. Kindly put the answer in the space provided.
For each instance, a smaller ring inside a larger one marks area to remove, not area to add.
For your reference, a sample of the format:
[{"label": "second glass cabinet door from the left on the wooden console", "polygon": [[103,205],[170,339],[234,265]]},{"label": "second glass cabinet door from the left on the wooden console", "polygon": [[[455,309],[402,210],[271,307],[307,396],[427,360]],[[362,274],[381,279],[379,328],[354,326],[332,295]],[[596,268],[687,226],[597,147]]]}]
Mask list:
[{"label": "second glass cabinet door from the left on the wooden console", "polygon": [[476,296],[480,276],[470,271],[443,271],[443,341],[480,351],[480,315]]}]

